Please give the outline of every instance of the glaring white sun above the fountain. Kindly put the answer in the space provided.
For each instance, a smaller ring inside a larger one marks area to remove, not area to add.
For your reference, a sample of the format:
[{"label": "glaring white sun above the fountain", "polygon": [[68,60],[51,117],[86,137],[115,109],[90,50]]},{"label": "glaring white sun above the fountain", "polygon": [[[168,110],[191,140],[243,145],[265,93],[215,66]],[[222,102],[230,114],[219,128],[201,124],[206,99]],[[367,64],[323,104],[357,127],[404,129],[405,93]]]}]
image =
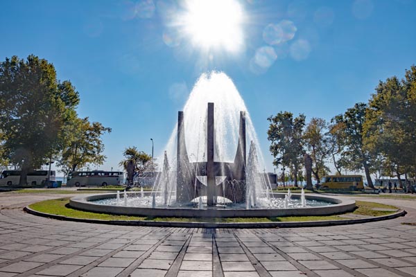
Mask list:
[{"label": "glaring white sun above the fountain", "polygon": [[182,24],[193,44],[204,49],[236,52],[243,44],[243,10],[236,0],[187,0]]}]

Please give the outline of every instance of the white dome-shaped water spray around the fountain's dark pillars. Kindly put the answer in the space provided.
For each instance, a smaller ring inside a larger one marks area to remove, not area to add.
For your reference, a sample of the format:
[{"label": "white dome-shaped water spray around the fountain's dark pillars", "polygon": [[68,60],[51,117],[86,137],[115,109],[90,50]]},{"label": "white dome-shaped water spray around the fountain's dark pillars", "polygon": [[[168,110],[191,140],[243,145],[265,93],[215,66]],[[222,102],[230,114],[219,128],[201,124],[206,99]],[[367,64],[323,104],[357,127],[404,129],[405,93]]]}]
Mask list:
[{"label": "white dome-shaped water spray around the fountain's dark pillars", "polygon": [[[253,177],[247,185],[250,186],[250,197],[253,206],[257,206],[257,199],[267,195],[268,187],[259,175],[259,168],[264,167],[263,157],[260,149],[257,134],[254,130],[250,114],[245,106],[245,102],[239,91],[236,89],[232,80],[223,72],[203,73],[195,86],[193,87],[189,98],[184,105],[184,135],[187,145],[189,161],[205,161],[207,151],[207,103],[214,102],[214,161],[232,162],[236,155],[236,149],[239,141],[239,116],[240,111],[245,111],[246,118],[246,136],[250,141],[250,149],[253,149],[252,161],[249,161],[252,168]],[[162,177],[153,186],[153,192],[162,195],[164,206],[171,206],[175,202],[176,193],[176,157],[177,157],[177,126],[173,129],[168,143],[166,143],[163,155],[164,166]],[[255,157],[255,159],[254,159]],[[162,157],[159,157],[159,161]],[[171,161],[172,167],[168,166]],[[167,165],[167,166],[166,166]],[[186,170],[186,169],[185,169]],[[191,172],[191,168],[188,169]],[[257,170],[257,174],[254,173]],[[204,183],[204,173],[196,176],[199,181]],[[254,177],[256,176],[256,177]],[[220,182],[221,177],[216,177]],[[195,180],[197,181],[197,180]],[[225,199],[218,198],[218,203],[225,203]]]}]

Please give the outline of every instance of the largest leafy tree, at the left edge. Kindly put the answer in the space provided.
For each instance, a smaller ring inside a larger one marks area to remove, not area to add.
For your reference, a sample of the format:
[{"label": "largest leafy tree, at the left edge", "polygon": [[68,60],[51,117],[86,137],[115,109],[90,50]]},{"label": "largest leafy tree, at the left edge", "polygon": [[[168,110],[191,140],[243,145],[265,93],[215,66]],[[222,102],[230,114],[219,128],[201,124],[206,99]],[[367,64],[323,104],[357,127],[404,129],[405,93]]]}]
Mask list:
[{"label": "largest leafy tree, at the left edge", "polygon": [[40,168],[58,151],[65,124],[76,116],[78,92],[71,82],[56,79],[53,64],[35,55],[17,56],[0,64],[1,155],[27,172]]}]

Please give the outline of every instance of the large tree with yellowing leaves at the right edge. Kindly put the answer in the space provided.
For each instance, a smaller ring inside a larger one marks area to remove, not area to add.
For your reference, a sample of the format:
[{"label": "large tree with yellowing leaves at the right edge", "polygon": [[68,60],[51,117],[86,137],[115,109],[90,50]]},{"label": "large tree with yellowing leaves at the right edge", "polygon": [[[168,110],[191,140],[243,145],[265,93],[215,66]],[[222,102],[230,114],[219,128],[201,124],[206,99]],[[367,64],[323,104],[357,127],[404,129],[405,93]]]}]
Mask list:
[{"label": "large tree with yellowing leaves at the right edge", "polygon": [[401,184],[401,175],[416,171],[416,66],[380,81],[365,114],[365,147],[390,163]]}]

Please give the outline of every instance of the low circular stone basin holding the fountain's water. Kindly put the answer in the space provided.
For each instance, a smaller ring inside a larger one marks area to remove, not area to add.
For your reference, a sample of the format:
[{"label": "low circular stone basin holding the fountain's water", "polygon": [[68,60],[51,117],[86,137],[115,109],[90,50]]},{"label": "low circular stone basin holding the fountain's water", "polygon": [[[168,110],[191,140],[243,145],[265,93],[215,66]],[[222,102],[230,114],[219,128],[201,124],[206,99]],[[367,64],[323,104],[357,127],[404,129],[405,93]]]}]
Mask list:
[{"label": "low circular stone basin holding the fountain's water", "polygon": [[[250,208],[246,209],[245,204],[233,204],[232,207],[204,207],[198,208],[196,204],[189,206],[169,206],[151,208],[153,202],[150,193],[144,193],[146,196],[141,197],[141,193],[128,193],[128,199],[139,199],[150,202],[150,207],[144,206],[123,206],[123,194],[120,195],[119,204],[116,201],[116,193],[104,195],[92,195],[87,197],[73,197],[69,201],[69,206],[78,208],[83,211],[92,211],[96,213],[110,213],[114,215],[137,215],[150,217],[281,217],[281,216],[309,216],[309,215],[333,215],[336,213],[347,213],[354,211],[356,208],[354,200],[341,200],[333,197],[324,197],[320,195],[305,195],[306,207],[293,208]],[[270,193],[270,203],[284,201],[284,193]],[[292,194],[293,203],[300,202],[300,195]],[[98,202],[100,201],[100,202]],[[311,206],[310,203],[323,202],[325,206]],[[107,203],[107,204],[102,204]],[[196,208],[193,208],[196,206]],[[263,205],[264,206],[264,205]]]}]

